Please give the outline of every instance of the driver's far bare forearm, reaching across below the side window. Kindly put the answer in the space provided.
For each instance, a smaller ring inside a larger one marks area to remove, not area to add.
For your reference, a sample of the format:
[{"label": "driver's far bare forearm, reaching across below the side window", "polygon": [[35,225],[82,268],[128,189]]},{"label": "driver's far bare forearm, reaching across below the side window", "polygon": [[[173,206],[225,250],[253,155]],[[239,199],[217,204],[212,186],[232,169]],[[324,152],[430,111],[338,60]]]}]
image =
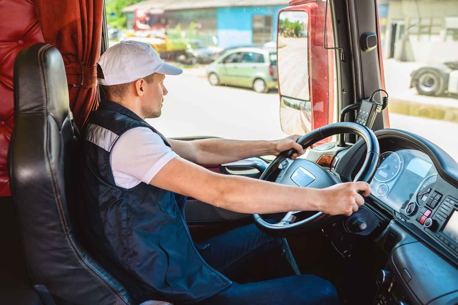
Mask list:
[{"label": "driver's far bare forearm, reaching across below the side window", "polygon": [[241,141],[228,139],[202,139],[193,141],[197,164],[211,165],[239,161],[250,157],[273,155],[273,141]]}]

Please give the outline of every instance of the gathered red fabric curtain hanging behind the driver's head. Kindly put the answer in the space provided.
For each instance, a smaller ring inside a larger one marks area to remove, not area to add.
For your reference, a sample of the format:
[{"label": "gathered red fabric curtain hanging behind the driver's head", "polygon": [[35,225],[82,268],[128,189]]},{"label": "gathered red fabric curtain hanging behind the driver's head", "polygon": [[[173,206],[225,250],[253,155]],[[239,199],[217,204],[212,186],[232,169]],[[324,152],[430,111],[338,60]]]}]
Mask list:
[{"label": "gathered red fabric curtain hanging behind the driver's head", "polygon": [[44,41],[64,58],[70,107],[82,128],[98,106],[96,63],[100,57],[103,0],[35,0]]}]

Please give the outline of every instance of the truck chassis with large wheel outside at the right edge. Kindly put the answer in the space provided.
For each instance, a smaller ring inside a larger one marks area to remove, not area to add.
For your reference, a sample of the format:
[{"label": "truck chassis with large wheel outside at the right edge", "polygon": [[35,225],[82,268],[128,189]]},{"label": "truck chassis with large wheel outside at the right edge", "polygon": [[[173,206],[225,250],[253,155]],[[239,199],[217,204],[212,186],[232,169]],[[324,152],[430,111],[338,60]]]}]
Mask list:
[{"label": "truck chassis with large wheel outside at the right edge", "polygon": [[443,93],[458,94],[458,61],[432,64],[412,71],[410,88],[419,94],[440,96]]}]

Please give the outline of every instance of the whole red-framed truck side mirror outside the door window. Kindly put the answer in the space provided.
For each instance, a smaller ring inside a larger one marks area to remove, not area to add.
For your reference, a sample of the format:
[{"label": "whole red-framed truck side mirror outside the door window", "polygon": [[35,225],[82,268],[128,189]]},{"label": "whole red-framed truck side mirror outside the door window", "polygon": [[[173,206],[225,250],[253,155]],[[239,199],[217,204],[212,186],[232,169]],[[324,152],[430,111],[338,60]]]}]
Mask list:
[{"label": "whole red-framed truck side mirror outside the door window", "polygon": [[[278,13],[280,123],[287,134],[307,134],[333,121],[334,59],[333,50],[323,48],[325,4],[309,1]],[[326,45],[332,46],[328,19]]]}]

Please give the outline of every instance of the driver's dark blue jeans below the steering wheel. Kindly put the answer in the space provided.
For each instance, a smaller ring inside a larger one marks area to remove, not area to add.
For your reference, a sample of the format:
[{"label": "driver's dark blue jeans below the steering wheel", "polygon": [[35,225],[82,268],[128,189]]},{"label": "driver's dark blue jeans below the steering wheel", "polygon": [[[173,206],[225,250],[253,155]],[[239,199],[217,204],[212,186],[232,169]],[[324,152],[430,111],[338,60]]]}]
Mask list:
[{"label": "driver's dark blue jeans below the steering wheel", "polygon": [[286,239],[268,236],[254,224],[200,244],[205,247],[199,250],[203,259],[233,284],[198,304],[338,304],[336,289],[329,281],[299,275]]}]

